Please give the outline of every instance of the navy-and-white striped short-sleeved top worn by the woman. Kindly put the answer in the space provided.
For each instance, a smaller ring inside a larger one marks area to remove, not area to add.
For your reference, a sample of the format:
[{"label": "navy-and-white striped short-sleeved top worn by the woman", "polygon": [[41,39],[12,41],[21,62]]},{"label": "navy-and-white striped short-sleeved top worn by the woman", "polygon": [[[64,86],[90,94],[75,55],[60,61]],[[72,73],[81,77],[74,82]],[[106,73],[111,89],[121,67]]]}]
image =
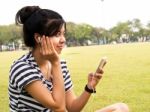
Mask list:
[{"label": "navy-and-white striped short-sleeved top worn by the woman", "polygon": [[[65,91],[72,87],[69,70],[66,61],[61,61],[61,69],[64,78]],[[52,112],[36,101],[24,89],[26,85],[41,80],[43,84],[52,91],[53,84],[46,80],[38,67],[31,52],[23,55],[15,61],[10,69],[9,76],[9,106],[11,112]]]}]

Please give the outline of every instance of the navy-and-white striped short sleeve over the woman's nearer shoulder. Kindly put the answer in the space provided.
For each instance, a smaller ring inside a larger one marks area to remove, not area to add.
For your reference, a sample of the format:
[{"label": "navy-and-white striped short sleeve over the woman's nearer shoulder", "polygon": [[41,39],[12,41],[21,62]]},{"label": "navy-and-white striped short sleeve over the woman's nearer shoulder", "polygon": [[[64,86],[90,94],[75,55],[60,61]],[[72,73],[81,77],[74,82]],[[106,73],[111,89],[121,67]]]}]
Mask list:
[{"label": "navy-and-white striped short sleeve over the woman's nearer shoulder", "polygon": [[12,64],[9,76],[12,84],[18,85],[40,78],[38,70],[28,59],[30,59],[29,56],[24,55]]}]

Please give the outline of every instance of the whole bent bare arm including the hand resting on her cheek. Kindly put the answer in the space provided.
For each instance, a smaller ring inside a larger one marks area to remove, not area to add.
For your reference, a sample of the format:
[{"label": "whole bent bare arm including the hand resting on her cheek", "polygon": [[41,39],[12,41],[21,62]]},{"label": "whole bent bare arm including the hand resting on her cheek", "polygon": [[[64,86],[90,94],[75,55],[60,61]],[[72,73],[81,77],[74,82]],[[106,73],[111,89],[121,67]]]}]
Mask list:
[{"label": "whole bent bare arm including the hand resting on her cheek", "polygon": [[52,64],[53,89],[52,93],[41,81],[34,81],[26,86],[28,93],[45,107],[55,112],[65,112],[64,80],[61,72],[60,59],[51,40],[43,36],[41,38],[41,55]]}]

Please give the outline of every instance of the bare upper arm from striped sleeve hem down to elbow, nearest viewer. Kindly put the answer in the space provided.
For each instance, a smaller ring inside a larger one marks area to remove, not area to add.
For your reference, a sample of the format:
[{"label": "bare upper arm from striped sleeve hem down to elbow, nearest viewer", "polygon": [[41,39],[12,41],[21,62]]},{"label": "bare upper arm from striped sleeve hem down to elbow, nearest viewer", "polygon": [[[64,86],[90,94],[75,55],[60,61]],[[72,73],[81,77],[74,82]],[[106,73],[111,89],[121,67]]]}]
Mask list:
[{"label": "bare upper arm from striped sleeve hem down to elbow, nearest viewer", "polygon": [[[55,100],[50,91],[42,84],[41,81],[34,81],[26,86],[26,91],[46,108],[55,112],[64,112],[59,101]],[[59,96],[59,95],[58,95]]]}]

